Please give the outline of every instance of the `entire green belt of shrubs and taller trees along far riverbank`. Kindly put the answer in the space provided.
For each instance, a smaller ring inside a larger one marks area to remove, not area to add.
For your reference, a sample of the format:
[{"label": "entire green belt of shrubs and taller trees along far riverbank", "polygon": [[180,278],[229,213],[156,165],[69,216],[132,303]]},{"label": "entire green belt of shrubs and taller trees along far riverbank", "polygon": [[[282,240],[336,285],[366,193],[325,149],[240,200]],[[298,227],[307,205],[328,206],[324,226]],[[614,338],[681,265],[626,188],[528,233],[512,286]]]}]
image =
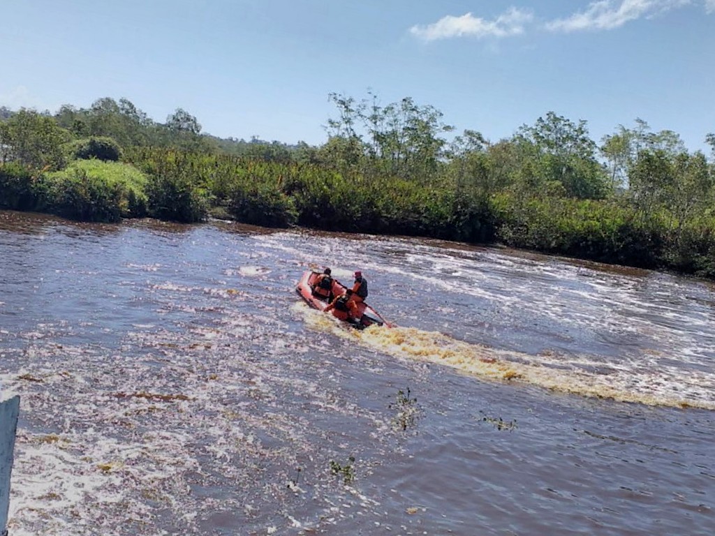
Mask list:
[{"label": "entire green belt of shrubs and taller trees along far riverbank", "polygon": [[712,154],[689,152],[638,119],[597,143],[549,112],[492,142],[410,98],[330,99],[319,146],[219,139],[127,99],[0,108],[0,208],[498,242],[715,278],[714,134]]}]

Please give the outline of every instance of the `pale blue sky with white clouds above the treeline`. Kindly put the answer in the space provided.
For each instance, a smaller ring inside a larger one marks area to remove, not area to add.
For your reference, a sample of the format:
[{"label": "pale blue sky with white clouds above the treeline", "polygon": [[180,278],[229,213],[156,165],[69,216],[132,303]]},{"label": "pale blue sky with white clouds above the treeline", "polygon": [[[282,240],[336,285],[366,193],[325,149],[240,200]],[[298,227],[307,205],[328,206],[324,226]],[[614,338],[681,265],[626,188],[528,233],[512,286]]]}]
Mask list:
[{"label": "pale blue sky with white clouds above the treeline", "polygon": [[328,94],[410,96],[493,141],[548,111],[715,131],[715,0],[0,0],[0,106],[125,97],[220,137],[325,142]]}]

